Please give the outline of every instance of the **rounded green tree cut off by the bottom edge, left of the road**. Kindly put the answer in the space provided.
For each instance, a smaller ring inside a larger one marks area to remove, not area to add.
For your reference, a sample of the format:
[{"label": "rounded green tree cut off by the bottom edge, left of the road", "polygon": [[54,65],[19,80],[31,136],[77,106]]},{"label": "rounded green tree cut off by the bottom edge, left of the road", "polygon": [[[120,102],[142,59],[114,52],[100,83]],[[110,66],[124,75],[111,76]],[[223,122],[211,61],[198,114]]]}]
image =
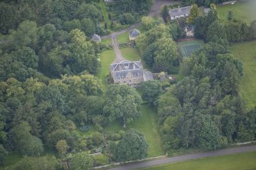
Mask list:
[{"label": "rounded green tree cut off by the bottom edge, left of the road", "polygon": [[78,152],[70,160],[70,168],[72,170],[90,170],[92,165],[92,158],[87,152]]}]

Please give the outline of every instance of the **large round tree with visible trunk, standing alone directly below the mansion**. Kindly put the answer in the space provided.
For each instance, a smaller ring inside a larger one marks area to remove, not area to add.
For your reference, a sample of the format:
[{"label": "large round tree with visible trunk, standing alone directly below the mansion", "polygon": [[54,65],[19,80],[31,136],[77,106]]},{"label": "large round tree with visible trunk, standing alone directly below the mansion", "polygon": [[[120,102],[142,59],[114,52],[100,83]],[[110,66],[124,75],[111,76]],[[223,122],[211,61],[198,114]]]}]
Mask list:
[{"label": "large round tree with visible trunk, standing alone directly below the mansion", "polygon": [[124,127],[126,127],[126,123],[141,114],[140,104],[141,96],[131,86],[109,85],[103,111],[108,115],[110,121],[122,117]]}]

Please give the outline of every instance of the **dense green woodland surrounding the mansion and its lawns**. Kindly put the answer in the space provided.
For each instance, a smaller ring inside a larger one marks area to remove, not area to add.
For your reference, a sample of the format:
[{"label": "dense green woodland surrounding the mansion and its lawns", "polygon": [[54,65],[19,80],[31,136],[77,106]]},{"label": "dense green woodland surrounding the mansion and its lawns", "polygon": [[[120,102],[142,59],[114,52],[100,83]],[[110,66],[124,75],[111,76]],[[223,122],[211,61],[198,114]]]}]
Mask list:
[{"label": "dense green woodland surrounding the mansion and its lawns", "polygon": [[[107,5],[113,30],[138,21],[152,5],[150,0],[121,2]],[[196,1],[211,3],[203,2]],[[109,30],[97,2],[1,1],[0,164],[8,152],[24,156],[8,167],[15,170],[91,169],[143,159],[148,149],[144,135],[125,129],[140,116],[142,103],[157,110],[166,150],[217,149],[254,140],[256,110],[245,110],[238,90],[243,67],[228,46],[255,38],[256,22],[247,25],[230,14],[223,25],[211,7],[208,15],[196,12],[190,18],[206,46],[186,59],[175,42],[186,35],[186,20],[160,24],[141,18],[144,33],[136,44],[143,62],[154,72],[179,73],[182,80],[144,82],[137,89],[109,85],[103,92],[97,76],[102,45],[90,37]],[[124,129],[102,133],[117,120]],[[81,135],[87,124],[97,132]],[[96,152],[102,154],[90,155]]]}]

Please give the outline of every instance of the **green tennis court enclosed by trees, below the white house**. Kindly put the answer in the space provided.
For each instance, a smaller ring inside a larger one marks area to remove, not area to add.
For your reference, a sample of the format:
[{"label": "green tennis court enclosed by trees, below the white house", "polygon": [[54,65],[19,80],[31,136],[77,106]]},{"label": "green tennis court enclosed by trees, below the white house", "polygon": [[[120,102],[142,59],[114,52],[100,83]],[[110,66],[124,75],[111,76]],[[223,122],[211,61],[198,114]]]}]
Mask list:
[{"label": "green tennis court enclosed by trees, below the white house", "polygon": [[203,47],[203,44],[203,40],[178,42],[180,55],[182,57],[190,56],[194,51],[198,50],[200,47]]}]

